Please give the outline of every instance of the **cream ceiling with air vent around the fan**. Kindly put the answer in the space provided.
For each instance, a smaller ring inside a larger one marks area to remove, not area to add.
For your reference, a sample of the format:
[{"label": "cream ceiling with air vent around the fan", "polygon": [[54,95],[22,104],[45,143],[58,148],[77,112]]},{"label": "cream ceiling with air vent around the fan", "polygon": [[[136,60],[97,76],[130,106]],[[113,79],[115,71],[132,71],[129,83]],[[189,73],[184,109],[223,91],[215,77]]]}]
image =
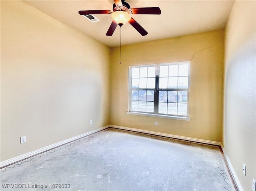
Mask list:
[{"label": "cream ceiling with air vent around the fan", "polygon": [[[112,36],[106,32],[112,22],[110,14],[96,14],[100,21],[90,22],[78,10],[112,10],[112,0],[29,0],[30,6],[60,20],[90,37],[116,47],[120,28]],[[161,15],[132,15],[148,32],[141,36],[129,23],[122,26],[122,45],[177,37],[223,29],[234,4],[233,0],[126,0],[131,8],[160,7]]]}]

